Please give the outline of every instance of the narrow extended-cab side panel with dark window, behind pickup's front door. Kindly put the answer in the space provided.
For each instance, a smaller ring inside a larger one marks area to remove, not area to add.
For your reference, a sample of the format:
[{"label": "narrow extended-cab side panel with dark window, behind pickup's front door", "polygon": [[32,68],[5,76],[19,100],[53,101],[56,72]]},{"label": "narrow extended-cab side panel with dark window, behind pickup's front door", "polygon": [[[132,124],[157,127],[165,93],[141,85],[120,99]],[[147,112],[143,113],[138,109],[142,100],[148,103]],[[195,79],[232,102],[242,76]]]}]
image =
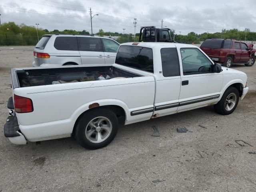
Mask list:
[{"label": "narrow extended-cab side panel with dark window, behind pickup's front door", "polygon": [[173,114],[178,109],[181,81],[180,64],[175,46],[173,48],[159,48],[158,51],[161,58],[156,59],[158,59],[158,63],[162,62],[162,64],[154,65],[154,71],[157,71],[155,72],[154,114],[164,116]]}]

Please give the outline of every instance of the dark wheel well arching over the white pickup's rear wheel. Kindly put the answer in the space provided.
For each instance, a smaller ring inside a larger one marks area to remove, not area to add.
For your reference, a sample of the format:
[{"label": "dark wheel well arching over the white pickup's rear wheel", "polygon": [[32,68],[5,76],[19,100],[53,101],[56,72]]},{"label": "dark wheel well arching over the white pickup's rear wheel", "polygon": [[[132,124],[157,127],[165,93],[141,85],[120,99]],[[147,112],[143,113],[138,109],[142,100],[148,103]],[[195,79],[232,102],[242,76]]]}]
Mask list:
[{"label": "dark wheel well arching over the white pickup's rear wheel", "polygon": [[111,110],[112,112],[114,112],[114,114],[116,114],[116,117],[118,118],[118,122],[119,124],[121,125],[124,125],[125,123],[125,120],[126,120],[126,114],[125,114],[125,111],[122,107],[120,106],[117,106],[117,105],[104,105],[104,106],[99,106],[99,107],[94,107],[94,108],[91,108],[89,110],[86,110],[85,112],[83,112],[82,114],[80,114],[80,116],[77,118],[76,120],[76,123],[74,124],[74,128],[73,128],[73,133],[76,129],[76,124],[78,122],[78,120],[81,118],[81,116],[84,114],[84,113],[88,113],[92,110],[95,110],[95,109],[109,109]]}]

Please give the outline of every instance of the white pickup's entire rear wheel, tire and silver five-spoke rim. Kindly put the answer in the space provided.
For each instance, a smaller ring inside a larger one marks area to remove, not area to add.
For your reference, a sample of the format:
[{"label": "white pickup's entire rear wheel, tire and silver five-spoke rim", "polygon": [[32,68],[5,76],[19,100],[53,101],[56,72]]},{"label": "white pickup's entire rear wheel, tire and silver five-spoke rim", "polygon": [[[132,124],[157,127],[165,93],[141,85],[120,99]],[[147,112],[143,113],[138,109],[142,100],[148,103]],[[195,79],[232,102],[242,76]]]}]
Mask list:
[{"label": "white pickup's entire rear wheel, tire and silver five-spoke rim", "polygon": [[98,149],[107,146],[117,131],[116,114],[108,109],[95,108],[79,118],[74,137],[84,148]]}]

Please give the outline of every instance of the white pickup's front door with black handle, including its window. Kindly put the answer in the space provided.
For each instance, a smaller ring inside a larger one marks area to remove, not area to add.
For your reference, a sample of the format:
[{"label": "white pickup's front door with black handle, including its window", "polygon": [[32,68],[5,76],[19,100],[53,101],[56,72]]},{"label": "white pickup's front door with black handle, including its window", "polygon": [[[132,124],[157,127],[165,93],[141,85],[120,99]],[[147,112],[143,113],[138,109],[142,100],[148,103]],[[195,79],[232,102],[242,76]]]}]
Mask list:
[{"label": "white pickup's front door with black handle, including its window", "polygon": [[198,48],[180,47],[181,87],[178,111],[213,104],[220,97],[222,72]]}]

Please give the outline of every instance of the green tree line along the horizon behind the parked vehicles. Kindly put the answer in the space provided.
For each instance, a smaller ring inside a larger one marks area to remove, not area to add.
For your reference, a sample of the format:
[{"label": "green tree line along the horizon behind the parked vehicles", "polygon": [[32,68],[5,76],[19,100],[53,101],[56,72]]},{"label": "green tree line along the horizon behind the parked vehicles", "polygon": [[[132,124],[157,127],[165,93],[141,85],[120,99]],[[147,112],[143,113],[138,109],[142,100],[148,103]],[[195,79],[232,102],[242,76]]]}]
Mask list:
[{"label": "green tree line along the horizon behind the parked vehicles", "polygon": [[[90,34],[86,30],[76,31],[76,30],[63,30],[59,31],[57,29],[49,31],[47,29],[38,28],[38,37],[42,38],[44,34],[57,34],[57,33],[66,33],[66,34]],[[138,41],[139,33],[136,33],[136,38],[134,34],[124,34],[118,32],[104,32],[102,29],[99,30],[97,36],[108,36],[112,38],[117,36],[116,39],[120,43],[124,42],[136,42]],[[202,34],[196,34],[195,32],[190,32],[187,35],[176,34],[175,30],[172,30],[172,36],[176,42],[187,43],[187,44],[200,44],[201,41],[204,41],[209,38],[229,38],[236,40],[246,40],[246,41],[256,41],[256,32],[251,32],[250,29],[246,28],[241,31],[238,29],[226,30],[223,29],[221,32],[208,33],[204,32]],[[14,22],[8,22],[2,24],[0,27],[0,45],[36,45],[38,42],[36,26],[27,26],[25,24],[17,25]]]}]

